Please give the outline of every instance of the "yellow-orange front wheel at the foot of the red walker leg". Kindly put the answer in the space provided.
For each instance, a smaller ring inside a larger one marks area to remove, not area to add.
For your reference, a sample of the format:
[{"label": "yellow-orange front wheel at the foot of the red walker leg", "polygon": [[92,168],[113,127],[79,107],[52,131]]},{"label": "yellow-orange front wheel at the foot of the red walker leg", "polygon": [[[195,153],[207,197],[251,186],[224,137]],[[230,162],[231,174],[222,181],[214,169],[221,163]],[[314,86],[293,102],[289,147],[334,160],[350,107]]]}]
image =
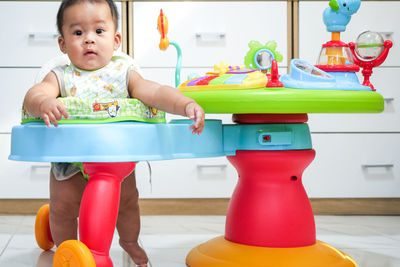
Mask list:
[{"label": "yellow-orange front wheel at the foot of the red walker leg", "polygon": [[88,247],[78,240],[67,240],[57,248],[53,267],[96,267]]}]

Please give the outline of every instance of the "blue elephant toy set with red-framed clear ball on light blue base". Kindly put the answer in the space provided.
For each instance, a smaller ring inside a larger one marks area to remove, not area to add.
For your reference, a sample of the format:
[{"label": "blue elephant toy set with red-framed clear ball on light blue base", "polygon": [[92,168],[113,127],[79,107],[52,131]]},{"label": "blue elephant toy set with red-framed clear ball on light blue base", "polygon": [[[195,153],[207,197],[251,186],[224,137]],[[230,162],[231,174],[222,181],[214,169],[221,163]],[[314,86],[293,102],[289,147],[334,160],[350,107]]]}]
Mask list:
[{"label": "blue elephant toy set with red-framed clear ball on light blue base", "polygon": [[[331,1],[331,7],[339,1]],[[357,38],[357,44],[345,43],[340,40],[340,31],[344,31],[350,21],[350,15],[355,13],[359,1],[342,1],[340,8],[346,15],[346,23],[337,21],[336,13],[329,8],[324,11],[324,23],[328,31],[332,31],[332,40],[322,45],[317,65],[295,59],[291,62],[290,74],[281,77],[286,87],[302,89],[335,89],[335,90],[374,90],[369,81],[372,68],[379,66],[386,59],[392,42],[383,41],[378,33],[364,32]],[[332,7],[333,8],[333,7]],[[340,15],[339,17],[342,17]],[[341,26],[337,26],[340,24]],[[363,67],[364,82],[360,84],[356,72]]]}]

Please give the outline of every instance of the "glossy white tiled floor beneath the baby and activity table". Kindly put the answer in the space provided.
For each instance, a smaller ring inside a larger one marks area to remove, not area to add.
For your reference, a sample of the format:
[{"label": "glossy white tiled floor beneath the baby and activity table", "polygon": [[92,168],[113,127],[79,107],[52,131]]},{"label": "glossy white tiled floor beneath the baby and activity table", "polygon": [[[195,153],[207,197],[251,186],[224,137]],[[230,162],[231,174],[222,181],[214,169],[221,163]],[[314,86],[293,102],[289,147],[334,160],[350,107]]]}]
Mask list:
[{"label": "glossy white tiled floor beneath the baby and activity table", "polygon": [[[144,216],[140,241],[152,267],[185,267],[189,250],[222,235],[224,224],[223,216]],[[316,216],[316,225],[319,240],[360,267],[400,267],[400,216]],[[37,248],[33,232],[33,216],[0,216],[1,267],[51,266],[53,252]],[[114,266],[134,266],[117,235],[110,254]]]}]

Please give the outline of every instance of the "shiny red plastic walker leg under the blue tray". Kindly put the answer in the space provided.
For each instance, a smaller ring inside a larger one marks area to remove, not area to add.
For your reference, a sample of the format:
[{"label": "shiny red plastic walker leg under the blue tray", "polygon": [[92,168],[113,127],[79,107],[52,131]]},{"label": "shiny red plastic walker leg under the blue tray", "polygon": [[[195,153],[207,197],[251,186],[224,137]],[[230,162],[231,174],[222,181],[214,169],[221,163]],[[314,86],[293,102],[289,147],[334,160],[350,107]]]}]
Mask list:
[{"label": "shiny red plastic walker leg under the blue tray", "polygon": [[83,163],[83,169],[89,181],[79,210],[79,239],[92,252],[97,267],[112,267],[109,251],[121,183],[135,169],[135,163]]}]

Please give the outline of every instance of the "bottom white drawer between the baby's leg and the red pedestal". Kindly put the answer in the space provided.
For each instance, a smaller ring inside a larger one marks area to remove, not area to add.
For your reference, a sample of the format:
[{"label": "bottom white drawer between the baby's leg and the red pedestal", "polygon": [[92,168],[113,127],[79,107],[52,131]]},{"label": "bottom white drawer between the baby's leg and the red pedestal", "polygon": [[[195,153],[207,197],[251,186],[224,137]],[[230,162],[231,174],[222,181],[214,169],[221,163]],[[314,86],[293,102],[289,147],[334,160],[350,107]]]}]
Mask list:
[{"label": "bottom white drawer between the baby's leg and the red pedestal", "polygon": [[237,172],[225,157],[151,161],[152,185],[145,162],[140,162],[136,180],[141,198],[230,197]]}]

